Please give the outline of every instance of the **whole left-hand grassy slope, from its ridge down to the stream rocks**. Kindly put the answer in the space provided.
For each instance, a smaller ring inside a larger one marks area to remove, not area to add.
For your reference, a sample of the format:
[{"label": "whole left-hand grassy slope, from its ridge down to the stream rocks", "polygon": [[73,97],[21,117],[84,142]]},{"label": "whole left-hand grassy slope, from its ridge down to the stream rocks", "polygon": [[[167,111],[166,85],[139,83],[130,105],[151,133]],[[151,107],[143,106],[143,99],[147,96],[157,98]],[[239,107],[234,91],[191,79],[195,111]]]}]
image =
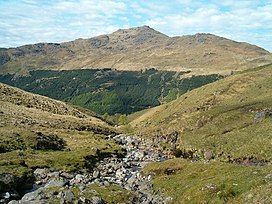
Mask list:
[{"label": "whole left-hand grassy slope, from its ridge down to the stream rocks", "polygon": [[[98,159],[92,147],[102,153],[120,150],[103,136],[114,130],[87,111],[4,84],[0,84],[0,95],[0,172],[21,176],[46,166],[81,171]],[[62,138],[64,150],[37,150],[39,133]]]}]

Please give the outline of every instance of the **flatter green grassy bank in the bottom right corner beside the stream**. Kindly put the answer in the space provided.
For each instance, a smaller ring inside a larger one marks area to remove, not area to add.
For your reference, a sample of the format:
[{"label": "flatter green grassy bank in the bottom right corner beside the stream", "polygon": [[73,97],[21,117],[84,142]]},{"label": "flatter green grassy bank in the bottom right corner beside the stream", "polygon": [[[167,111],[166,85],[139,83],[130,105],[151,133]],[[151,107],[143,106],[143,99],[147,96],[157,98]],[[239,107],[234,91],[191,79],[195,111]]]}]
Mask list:
[{"label": "flatter green grassy bank in the bottom right corner beside the stream", "polygon": [[[174,171],[171,174],[167,173],[170,168]],[[272,202],[271,166],[204,164],[173,159],[150,164],[144,173],[155,176],[152,180],[155,192],[171,196],[172,203]]]}]

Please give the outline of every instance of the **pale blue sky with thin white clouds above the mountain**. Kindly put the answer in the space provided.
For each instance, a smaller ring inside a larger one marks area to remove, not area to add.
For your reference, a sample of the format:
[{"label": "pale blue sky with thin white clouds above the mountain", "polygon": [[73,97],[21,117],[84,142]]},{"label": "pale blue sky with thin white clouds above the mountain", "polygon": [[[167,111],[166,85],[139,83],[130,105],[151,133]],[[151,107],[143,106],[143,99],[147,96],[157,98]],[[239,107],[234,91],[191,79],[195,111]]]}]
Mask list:
[{"label": "pale blue sky with thin white clouds above the mountain", "polygon": [[0,0],[0,47],[142,25],[169,36],[213,33],[272,51],[272,0]]}]

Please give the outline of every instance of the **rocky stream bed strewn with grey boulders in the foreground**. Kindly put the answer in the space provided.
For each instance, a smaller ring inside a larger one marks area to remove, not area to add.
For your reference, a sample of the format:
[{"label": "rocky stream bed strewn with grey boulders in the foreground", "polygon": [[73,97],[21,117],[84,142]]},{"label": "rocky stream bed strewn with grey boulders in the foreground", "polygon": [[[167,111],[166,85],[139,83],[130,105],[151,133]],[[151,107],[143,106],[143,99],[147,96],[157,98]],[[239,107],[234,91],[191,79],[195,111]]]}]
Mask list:
[{"label": "rocky stream bed strewn with grey boulders in the foreground", "polygon": [[[106,203],[96,190],[89,186],[118,185],[133,193],[133,198],[126,203],[168,203],[171,198],[155,194],[149,182],[152,175],[143,175],[140,171],[148,162],[160,162],[168,158],[158,149],[152,148],[151,142],[141,140],[137,136],[108,136],[121,145],[126,154],[120,158],[116,155],[99,161],[90,173],[76,174],[56,171],[49,168],[39,168],[34,171],[35,183],[22,197],[13,192],[0,195],[0,203]],[[79,190],[76,196],[72,189]],[[84,197],[85,191],[91,192],[91,197]],[[58,202],[55,202],[58,203]]]}]

